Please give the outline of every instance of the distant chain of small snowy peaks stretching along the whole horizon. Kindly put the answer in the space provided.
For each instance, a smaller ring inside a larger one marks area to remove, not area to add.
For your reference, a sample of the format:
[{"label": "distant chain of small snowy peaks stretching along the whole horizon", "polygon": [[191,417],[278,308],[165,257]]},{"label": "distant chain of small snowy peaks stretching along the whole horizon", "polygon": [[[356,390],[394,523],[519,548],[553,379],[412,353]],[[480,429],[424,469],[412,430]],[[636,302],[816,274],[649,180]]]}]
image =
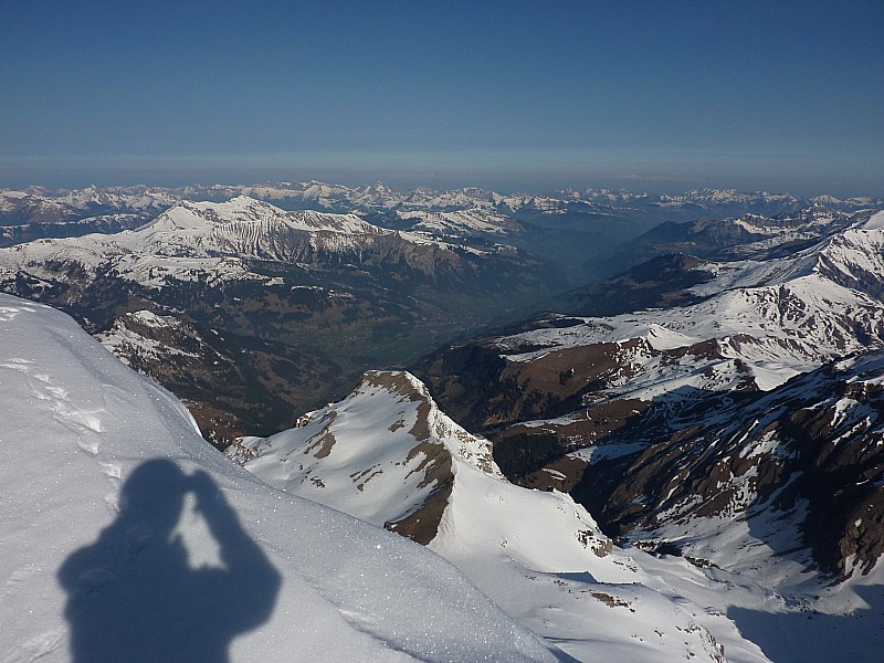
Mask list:
[{"label": "distant chain of small snowy peaks stretching along the whole horizon", "polygon": [[[471,215],[504,214],[518,219],[567,215],[571,212],[629,213],[633,219],[653,214],[656,223],[693,221],[699,217],[723,218],[745,213],[776,215],[793,212],[811,204],[842,211],[881,209],[881,198],[838,199],[818,196],[799,199],[788,193],[701,189],[687,193],[651,194],[630,191],[566,189],[548,194],[502,194],[475,187],[435,190],[418,187],[399,190],[377,182],[369,186],[345,186],[319,181],[266,182],[261,185],[211,185],[180,188],[161,187],[87,187],[51,191],[32,187],[23,191],[0,189],[0,225],[22,223],[66,224],[86,217],[134,214],[155,217],[181,202],[224,202],[246,196],[272,202],[285,209],[318,209],[330,212],[379,213],[397,219],[412,213],[467,212]],[[638,215],[636,215],[638,214]],[[51,236],[51,235],[46,235]]]}]

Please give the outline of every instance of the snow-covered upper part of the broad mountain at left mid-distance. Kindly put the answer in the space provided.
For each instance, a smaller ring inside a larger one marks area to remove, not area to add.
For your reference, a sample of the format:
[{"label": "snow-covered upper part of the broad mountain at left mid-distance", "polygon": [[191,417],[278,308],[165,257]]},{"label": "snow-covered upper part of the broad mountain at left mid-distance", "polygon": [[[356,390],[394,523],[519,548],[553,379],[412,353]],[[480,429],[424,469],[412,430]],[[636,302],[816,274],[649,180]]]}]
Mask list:
[{"label": "snow-covered upper part of the broad mountain at left mid-distance", "polygon": [[[446,252],[442,261],[435,252]],[[113,270],[145,286],[166,280],[242,278],[249,260],[311,269],[318,261],[393,261],[433,275],[471,249],[387,231],[352,214],[285,212],[248,197],[221,203],[180,203],[137,230],[114,235],[21,244],[2,251],[8,272],[51,280],[59,264],[87,272]],[[388,265],[389,266],[389,265]]]}]

